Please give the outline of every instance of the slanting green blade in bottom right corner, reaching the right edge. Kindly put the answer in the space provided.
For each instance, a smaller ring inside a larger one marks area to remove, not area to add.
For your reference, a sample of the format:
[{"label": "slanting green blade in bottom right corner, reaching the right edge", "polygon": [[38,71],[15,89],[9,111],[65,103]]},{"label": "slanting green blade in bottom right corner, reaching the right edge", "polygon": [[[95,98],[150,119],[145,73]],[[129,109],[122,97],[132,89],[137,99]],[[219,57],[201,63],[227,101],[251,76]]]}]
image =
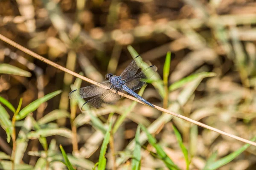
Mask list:
[{"label": "slanting green blade in bottom right corner, reaching the right edge", "polygon": [[[253,139],[251,139],[251,141],[255,141],[256,140],[256,136],[253,137]],[[240,147],[238,150],[236,150],[233,153],[230,153],[229,155],[225,156],[224,158],[219,159],[218,161],[215,161],[212,164],[207,164],[206,167],[204,167],[204,170],[216,170],[219,167],[222,167],[223,165],[229,163],[230,161],[232,161],[233,159],[235,159],[237,156],[239,156],[242,152],[244,152],[244,150],[246,150],[248,147],[250,146],[250,144],[244,144],[242,147]]]}]

